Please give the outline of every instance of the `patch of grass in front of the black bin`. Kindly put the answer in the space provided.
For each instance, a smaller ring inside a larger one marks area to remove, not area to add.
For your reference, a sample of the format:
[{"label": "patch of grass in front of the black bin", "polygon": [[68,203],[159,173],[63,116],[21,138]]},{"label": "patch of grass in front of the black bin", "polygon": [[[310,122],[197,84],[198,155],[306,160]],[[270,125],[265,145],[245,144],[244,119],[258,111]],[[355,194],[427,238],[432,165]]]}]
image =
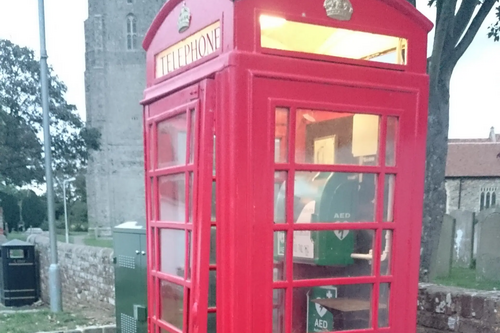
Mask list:
[{"label": "patch of grass in front of the black bin", "polygon": [[76,329],[89,320],[81,315],[49,310],[0,314],[0,333],[33,333]]}]

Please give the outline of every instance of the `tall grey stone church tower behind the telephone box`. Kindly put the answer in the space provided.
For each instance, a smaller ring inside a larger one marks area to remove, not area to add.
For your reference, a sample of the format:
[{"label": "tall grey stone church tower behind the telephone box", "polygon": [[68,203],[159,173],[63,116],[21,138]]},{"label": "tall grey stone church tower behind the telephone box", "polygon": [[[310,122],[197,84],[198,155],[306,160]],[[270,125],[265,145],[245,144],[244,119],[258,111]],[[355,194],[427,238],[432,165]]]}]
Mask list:
[{"label": "tall grey stone church tower behind the telephone box", "polygon": [[[88,0],[85,21],[87,122],[101,150],[87,169],[89,227],[145,224],[142,40],[165,0]],[[109,229],[108,229],[109,230]]]}]

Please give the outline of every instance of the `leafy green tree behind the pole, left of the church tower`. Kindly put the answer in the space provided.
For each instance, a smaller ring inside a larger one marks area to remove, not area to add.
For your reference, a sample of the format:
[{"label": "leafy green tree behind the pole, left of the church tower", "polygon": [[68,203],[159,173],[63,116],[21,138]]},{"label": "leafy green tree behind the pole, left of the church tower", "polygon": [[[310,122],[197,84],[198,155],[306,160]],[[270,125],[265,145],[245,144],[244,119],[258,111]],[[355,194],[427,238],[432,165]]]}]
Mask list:
[{"label": "leafy green tree behind the pole, left of the church tower", "polygon": [[[74,175],[99,149],[100,134],[65,100],[66,86],[49,68],[55,174]],[[43,183],[40,65],[32,50],[0,39],[0,186]]]}]

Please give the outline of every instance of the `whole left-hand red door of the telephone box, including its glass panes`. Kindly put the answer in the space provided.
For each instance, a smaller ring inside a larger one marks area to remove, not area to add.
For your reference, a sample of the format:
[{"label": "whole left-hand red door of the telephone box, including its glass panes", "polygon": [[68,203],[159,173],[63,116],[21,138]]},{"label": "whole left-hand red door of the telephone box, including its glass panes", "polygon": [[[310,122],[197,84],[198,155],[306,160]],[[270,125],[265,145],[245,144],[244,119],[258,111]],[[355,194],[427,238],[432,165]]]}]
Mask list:
[{"label": "whole left-hand red door of the telephone box, including its glass panes", "polygon": [[145,108],[149,332],[206,332],[211,80]]}]

